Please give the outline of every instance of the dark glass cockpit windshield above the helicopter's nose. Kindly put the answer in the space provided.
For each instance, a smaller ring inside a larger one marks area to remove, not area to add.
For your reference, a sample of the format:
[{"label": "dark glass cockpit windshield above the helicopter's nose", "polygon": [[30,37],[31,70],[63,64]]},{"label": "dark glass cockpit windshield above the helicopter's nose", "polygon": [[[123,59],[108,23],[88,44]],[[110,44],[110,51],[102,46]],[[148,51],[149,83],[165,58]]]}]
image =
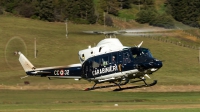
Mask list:
[{"label": "dark glass cockpit windshield above the helicopter's nose", "polygon": [[140,57],[140,56],[153,57],[149,49],[146,49],[146,48],[132,47],[131,52],[134,58]]}]

